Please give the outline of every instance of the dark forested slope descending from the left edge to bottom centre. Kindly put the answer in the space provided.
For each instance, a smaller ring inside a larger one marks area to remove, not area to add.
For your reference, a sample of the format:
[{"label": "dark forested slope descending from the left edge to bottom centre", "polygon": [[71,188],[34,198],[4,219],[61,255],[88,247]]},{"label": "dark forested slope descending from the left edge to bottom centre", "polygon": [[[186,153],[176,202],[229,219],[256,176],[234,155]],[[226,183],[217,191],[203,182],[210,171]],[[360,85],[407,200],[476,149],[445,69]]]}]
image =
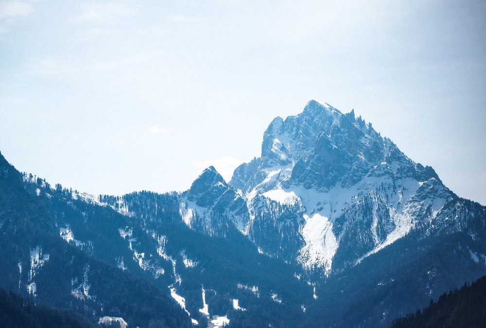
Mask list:
[{"label": "dark forested slope descending from the left edge to bottom centre", "polygon": [[131,326],[148,326],[150,319],[172,327],[191,325],[169,291],[107,264],[96,256],[93,243],[63,236],[66,221],[104,225],[125,217],[114,211],[97,216],[98,207],[76,202],[67,190],[52,189],[41,179],[25,184],[1,155],[0,172],[2,288],[40,305],[77,311],[93,323],[122,312]]}]

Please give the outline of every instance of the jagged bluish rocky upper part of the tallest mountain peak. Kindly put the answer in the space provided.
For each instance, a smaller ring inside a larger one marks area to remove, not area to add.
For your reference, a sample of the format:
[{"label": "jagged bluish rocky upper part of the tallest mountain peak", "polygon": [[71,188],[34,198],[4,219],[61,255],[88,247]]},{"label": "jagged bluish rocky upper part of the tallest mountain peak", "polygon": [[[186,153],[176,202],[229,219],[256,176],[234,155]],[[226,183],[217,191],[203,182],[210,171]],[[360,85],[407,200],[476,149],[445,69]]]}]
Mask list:
[{"label": "jagged bluish rocky upper part of the tallest mountain peak", "polygon": [[390,160],[398,170],[392,175],[431,175],[382,138],[371,123],[356,118],[354,110],[343,114],[316,100],[300,114],[274,119],[263,135],[261,149],[260,158],[235,170],[231,186],[248,192],[255,188],[265,192],[277,185],[316,190],[329,190],[336,184],[349,187],[367,174],[378,174],[375,167]]}]

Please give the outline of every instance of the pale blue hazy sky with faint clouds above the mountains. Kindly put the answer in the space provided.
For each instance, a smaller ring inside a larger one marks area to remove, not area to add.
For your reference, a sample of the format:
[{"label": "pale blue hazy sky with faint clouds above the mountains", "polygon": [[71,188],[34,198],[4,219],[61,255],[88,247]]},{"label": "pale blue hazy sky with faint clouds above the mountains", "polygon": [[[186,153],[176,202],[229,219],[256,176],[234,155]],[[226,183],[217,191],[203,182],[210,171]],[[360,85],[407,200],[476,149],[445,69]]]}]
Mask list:
[{"label": "pale blue hazy sky with faint clouds above the mountains", "polygon": [[311,99],[486,205],[484,0],[0,0],[0,152],[51,184],[229,180]]}]

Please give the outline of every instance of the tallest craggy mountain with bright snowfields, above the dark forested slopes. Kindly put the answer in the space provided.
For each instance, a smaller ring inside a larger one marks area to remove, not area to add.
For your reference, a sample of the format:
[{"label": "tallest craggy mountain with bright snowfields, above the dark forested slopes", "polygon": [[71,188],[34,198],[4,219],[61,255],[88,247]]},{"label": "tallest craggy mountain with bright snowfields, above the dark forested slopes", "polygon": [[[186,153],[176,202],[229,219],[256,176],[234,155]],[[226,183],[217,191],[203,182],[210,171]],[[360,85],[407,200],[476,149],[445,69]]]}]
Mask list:
[{"label": "tallest craggy mountain with bright snowfields, above the dark forested slopes", "polygon": [[[238,202],[239,215],[228,216],[229,222],[262,252],[326,274],[358,263],[418,225],[431,225],[426,234],[440,230],[438,222],[450,225],[446,204],[457,199],[431,167],[412,161],[371,123],[313,100],[296,116],[274,119],[261,156],[239,166],[229,184],[221,177],[216,182]],[[214,188],[198,190],[204,194],[200,206],[185,210],[212,209],[221,202]],[[214,195],[210,206],[201,206],[208,195]]]}]

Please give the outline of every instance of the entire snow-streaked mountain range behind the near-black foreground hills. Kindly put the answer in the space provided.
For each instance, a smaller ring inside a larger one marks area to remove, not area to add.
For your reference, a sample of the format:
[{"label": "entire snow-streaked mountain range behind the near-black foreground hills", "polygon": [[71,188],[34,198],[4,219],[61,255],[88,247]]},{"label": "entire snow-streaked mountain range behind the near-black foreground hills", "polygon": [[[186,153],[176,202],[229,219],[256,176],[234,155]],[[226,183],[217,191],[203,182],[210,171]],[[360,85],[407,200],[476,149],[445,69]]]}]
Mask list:
[{"label": "entire snow-streaked mountain range behind the near-black foreground hills", "polygon": [[486,207],[316,101],[180,193],[87,195],[0,155],[0,232],[0,287],[128,327],[387,327],[486,274]]}]

